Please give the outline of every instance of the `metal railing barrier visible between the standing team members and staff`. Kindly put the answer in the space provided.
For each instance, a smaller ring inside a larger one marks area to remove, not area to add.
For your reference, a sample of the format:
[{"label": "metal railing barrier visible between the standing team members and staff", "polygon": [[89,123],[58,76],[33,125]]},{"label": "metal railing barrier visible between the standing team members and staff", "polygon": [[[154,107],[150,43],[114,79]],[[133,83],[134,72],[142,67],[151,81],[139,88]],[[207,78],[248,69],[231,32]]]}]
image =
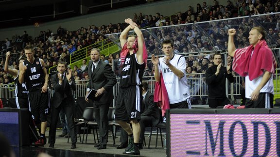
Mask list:
[{"label": "metal railing barrier visible between the standing team members and staff", "polygon": [[[191,74],[187,74],[187,77]],[[198,98],[202,99],[203,97],[208,96],[208,86],[205,81],[205,76],[204,73],[197,73],[197,77],[195,78],[187,78],[189,87],[190,87],[190,94],[192,98]],[[240,99],[240,95],[242,92],[242,82],[244,81],[243,77],[234,76],[235,80],[233,83],[228,83],[226,84],[226,94],[228,98],[232,101]],[[280,74],[275,74],[274,77],[274,91],[275,91],[275,97],[278,98],[278,95],[280,95],[280,81],[278,78],[280,78]],[[147,81],[149,84],[149,91],[151,93],[154,93],[155,89],[155,84],[156,80],[153,76],[150,77],[143,77],[144,81]],[[88,80],[78,80],[76,82],[76,91],[73,91],[73,96],[75,99],[78,97],[84,97],[86,95],[87,91],[87,85],[88,85]],[[113,87],[114,88],[114,95],[115,97],[119,94],[120,90],[120,78],[117,78],[117,84]],[[51,89],[52,91],[52,89]],[[13,84],[8,84],[8,85],[3,85],[3,87],[0,88],[0,98],[14,98],[15,94],[15,86]],[[51,95],[53,92],[51,92]],[[114,99],[115,100],[115,99]]]}]

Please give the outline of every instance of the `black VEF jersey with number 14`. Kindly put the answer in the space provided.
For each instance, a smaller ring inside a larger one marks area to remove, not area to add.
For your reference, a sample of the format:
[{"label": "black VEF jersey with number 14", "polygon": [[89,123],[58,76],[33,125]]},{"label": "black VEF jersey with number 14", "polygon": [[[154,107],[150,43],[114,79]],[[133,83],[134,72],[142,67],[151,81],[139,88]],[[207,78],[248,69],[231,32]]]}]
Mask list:
[{"label": "black VEF jersey with number 14", "polygon": [[40,59],[35,58],[33,63],[27,60],[23,61],[23,65],[27,66],[24,80],[28,91],[42,89],[45,82],[45,75]]}]

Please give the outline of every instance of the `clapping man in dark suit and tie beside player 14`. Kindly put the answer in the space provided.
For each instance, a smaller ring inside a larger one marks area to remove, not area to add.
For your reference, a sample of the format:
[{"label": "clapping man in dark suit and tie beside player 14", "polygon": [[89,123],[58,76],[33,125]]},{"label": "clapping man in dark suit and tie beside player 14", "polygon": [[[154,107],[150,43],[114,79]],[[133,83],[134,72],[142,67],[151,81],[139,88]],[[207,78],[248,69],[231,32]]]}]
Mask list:
[{"label": "clapping man in dark suit and tie beside player 14", "polygon": [[53,148],[55,143],[56,125],[61,108],[65,110],[68,120],[72,141],[71,148],[76,148],[77,132],[73,116],[75,100],[72,95],[72,91],[76,90],[76,84],[74,77],[72,76],[72,70],[69,70],[69,73],[67,74],[65,72],[66,67],[66,63],[58,62],[56,67],[58,73],[52,76],[54,94],[51,108],[51,126],[49,133],[49,143],[51,143],[49,147],[51,148]]}]

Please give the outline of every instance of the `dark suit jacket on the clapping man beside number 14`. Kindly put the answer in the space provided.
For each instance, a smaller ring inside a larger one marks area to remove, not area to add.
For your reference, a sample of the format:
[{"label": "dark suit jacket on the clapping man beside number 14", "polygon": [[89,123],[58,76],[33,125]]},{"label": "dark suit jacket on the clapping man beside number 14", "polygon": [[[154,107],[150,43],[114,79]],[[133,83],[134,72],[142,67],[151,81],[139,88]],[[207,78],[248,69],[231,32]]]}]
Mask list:
[{"label": "dark suit jacket on the clapping man beside number 14", "polygon": [[71,77],[72,83],[71,85],[69,84],[66,76],[64,77],[63,80],[63,86],[60,85],[59,78],[57,76],[57,73],[52,76],[52,84],[53,84],[53,89],[54,89],[54,94],[53,94],[53,103],[52,106],[54,108],[58,108],[61,105],[61,102],[68,101],[69,103],[74,103],[74,97],[72,94],[72,91],[76,90],[76,84],[75,84],[75,79],[72,76]]}]

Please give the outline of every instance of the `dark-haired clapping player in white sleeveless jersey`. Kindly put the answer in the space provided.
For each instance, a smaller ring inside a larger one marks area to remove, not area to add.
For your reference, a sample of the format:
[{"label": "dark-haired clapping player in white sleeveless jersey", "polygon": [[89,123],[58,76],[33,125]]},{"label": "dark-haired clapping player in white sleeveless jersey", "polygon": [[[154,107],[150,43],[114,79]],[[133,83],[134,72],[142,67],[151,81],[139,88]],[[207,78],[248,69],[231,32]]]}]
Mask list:
[{"label": "dark-haired clapping player in white sleeveless jersey", "polygon": [[173,52],[173,42],[164,40],[162,50],[165,54],[158,59],[152,55],[155,65],[155,79],[160,82],[162,74],[171,109],[191,109],[190,90],[186,78],[186,61],[181,55]]}]

